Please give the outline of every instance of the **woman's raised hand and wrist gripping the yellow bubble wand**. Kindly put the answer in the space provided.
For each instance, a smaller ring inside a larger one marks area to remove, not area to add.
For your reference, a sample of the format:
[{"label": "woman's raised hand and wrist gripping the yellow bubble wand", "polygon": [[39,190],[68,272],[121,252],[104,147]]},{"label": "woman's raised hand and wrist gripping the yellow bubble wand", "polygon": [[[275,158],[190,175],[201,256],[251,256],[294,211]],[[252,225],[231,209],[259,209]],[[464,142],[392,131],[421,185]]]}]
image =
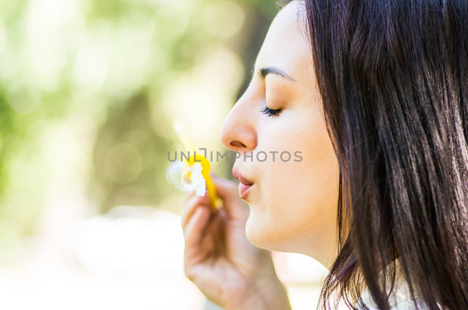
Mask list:
[{"label": "woman's raised hand and wrist gripping the yellow bubble wand", "polygon": [[211,175],[224,208],[209,206],[208,195],[195,192],[183,203],[184,268],[205,296],[227,310],[291,309],[269,251],[252,245],[245,235],[249,206],[237,185]]}]

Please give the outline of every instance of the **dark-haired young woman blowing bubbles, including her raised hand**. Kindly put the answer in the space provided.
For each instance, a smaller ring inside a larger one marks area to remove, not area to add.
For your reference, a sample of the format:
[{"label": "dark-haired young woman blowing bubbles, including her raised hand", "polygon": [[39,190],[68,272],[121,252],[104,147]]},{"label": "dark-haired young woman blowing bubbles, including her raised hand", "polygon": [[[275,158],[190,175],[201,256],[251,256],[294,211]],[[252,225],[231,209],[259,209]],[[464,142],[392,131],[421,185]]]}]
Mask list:
[{"label": "dark-haired young woman blowing bubbles, including her raised hand", "polygon": [[322,308],[468,309],[467,1],[280,9],[219,133],[239,191],[184,201],[187,276],[228,310],[290,309],[262,249],[298,252],[329,269]]}]

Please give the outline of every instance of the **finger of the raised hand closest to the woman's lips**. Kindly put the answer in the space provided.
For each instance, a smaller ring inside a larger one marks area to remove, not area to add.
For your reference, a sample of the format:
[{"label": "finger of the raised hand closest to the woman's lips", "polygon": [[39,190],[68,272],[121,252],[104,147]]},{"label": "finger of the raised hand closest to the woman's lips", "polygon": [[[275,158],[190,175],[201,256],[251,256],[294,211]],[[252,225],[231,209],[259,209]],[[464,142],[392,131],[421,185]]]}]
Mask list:
[{"label": "finger of the raised hand closest to the woman's lips", "polygon": [[249,205],[239,197],[239,190],[234,181],[210,173],[219,198],[223,200],[224,207],[230,217],[240,217],[246,220],[249,216]]}]

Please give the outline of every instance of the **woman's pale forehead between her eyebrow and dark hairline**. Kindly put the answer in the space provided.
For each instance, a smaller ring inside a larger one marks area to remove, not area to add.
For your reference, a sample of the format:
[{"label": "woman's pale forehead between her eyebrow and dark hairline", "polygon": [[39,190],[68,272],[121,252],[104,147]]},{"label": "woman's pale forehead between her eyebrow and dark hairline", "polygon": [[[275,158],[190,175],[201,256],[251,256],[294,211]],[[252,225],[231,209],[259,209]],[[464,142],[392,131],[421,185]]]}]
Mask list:
[{"label": "woman's pale forehead between her eyebrow and dark hairline", "polygon": [[276,15],[258,52],[256,68],[276,66],[298,82],[310,82],[312,58],[301,10],[298,1],[292,1]]}]

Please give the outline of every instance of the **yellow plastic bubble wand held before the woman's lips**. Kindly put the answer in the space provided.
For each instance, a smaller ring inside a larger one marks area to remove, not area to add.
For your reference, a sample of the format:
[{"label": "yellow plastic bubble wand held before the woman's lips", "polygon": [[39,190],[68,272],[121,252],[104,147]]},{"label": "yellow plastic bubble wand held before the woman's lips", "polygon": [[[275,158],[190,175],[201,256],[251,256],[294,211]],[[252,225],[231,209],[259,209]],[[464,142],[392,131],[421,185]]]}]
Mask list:
[{"label": "yellow plastic bubble wand held before the woman's lips", "polygon": [[[179,139],[179,142],[182,145],[182,147],[186,151],[194,151],[194,154],[195,154],[195,147],[193,146],[190,139],[188,138],[188,135],[183,130],[182,125],[179,122],[174,121],[172,123],[172,127],[174,128],[174,132],[176,133],[177,138]],[[195,164],[196,162],[200,163],[202,167],[201,174],[203,178],[205,179],[206,191],[208,192],[208,200],[210,202],[210,205],[217,210],[222,208],[223,201],[221,198],[219,198],[218,193],[216,192],[216,187],[214,186],[213,181],[209,175],[210,162],[205,157],[203,157],[202,155],[198,155],[198,154],[196,156],[195,155],[190,156],[189,160],[187,159],[184,159],[184,160],[185,162],[190,164],[190,166],[193,166],[193,164]],[[183,177],[190,178],[191,172],[192,172],[191,170],[188,172],[183,172],[185,173],[185,176]]]}]

